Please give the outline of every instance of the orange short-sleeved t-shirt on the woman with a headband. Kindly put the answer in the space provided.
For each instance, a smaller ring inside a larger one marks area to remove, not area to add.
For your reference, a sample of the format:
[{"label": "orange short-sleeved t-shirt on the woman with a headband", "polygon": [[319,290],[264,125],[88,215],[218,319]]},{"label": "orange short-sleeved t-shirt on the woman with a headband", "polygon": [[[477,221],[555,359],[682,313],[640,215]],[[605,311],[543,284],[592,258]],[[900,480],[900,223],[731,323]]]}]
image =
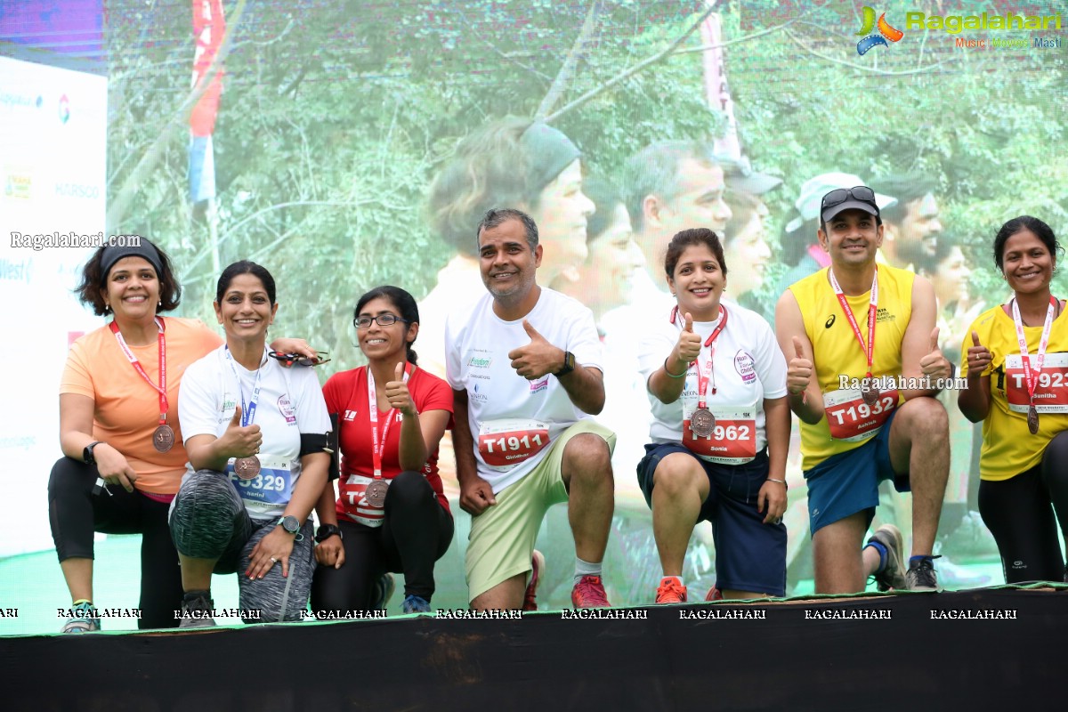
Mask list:
[{"label": "orange short-sleeved t-shirt on the woman with a headband", "polygon": [[[174,494],[186,472],[185,447],[178,423],[178,384],[186,368],[217,349],[222,338],[200,320],[162,317],[167,337],[167,423],[174,428],[174,446],[167,453],[153,447],[159,425],[159,394],[145,383],[123,354],[108,327],[74,343],[67,354],[60,394],[93,399],[93,439],[108,443],[137,473],[137,488],[154,494]],[[153,383],[159,384],[159,347],[131,346]]]}]

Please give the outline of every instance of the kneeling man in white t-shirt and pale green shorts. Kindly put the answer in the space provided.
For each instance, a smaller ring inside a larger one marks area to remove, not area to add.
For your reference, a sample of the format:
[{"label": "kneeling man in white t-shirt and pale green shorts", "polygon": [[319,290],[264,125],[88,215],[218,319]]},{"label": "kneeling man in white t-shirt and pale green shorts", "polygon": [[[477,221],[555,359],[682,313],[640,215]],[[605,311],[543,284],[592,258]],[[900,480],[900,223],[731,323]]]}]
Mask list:
[{"label": "kneeling man in white t-shirt and pale green shorts", "polygon": [[524,604],[534,540],[546,510],[559,502],[568,502],[575,536],[571,602],[607,607],[601,559],[612,520],[615,436],[590,417],[604,406],[593,314],[537,285],[543,248],[530,216],[489,210],[476,236],[488,294],[445,325],[460,507],[472,516],[471,607]]}]

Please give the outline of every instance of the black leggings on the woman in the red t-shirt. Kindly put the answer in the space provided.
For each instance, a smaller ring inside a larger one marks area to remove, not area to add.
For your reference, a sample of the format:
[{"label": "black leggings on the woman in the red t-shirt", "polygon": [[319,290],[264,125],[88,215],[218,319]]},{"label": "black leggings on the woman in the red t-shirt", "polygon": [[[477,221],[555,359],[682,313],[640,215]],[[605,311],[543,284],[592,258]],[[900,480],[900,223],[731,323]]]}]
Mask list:
[{"label": "black leggings on the woman in the red t-shirt", "polygon": [[367,611],[375,582],[387,571],[404,573],[405,594],[434,596],[434,563],[453,540],[453,518],[418,472],[402,472],[387,491],[381,526],[340,518],[345,563],[318,566],[312,580],[312,611]]}]

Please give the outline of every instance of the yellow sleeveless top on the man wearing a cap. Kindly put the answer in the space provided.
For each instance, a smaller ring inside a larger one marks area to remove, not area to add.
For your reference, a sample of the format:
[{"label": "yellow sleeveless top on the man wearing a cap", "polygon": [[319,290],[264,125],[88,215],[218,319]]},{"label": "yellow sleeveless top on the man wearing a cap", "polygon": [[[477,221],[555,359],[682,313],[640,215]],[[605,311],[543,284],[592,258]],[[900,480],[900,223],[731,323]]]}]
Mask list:
[{"label": "yellow sleeveless top on the man wearing a cap", "polygon": [[[828,279],[829,269],[821,269],[789,288],[801,308],[804,330],[812,342],[816,380],[824,400],[842,387],[841,376],[862,379],[867,373],[867,354],[857,341],[834,295]],[[879,303],[876,305],[875,349],[871,354],[871,375],[875,377],[901,375],[901,341],[909,319],[912,318],[914,279],[915,274],[907,270],[879,266]],[[867,291],[854,297],[846,296],[865,341],[869,299]],[[883,404],[884,400],[890,402]],[[889,395],[883,395],[876,408],[883,409],[899,402],[900,396],[895,402]],[[855,415],[855,409],[853,414]],[[804,471],[815,468],[832,455],[847,453],[866,442],[866,438],[852,441],[832,438],[829,416],[830,412],[815,425],[801,424],[801,469]],[[874,434],[877,431],[878,429],[868,432]]]}]

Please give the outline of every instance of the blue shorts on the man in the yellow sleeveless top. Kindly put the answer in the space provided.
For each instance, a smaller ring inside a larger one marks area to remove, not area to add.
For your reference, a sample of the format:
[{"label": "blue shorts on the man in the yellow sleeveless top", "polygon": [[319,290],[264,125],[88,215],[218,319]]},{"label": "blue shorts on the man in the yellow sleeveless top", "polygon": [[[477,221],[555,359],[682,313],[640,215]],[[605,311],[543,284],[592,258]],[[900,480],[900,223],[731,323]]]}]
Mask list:
[{"label": "blue shorts on the man in the yellow sleeveless top", "polygon": [[894,473],[890,464],[890,426],[895,412],[879,433],[860,447],[832,455],[804,473],[808,482],[808,527],[821,527],[865,512],[867,526],[879,505],[879,482],[894,480],[898,492],[910,491],[909,475]]}]

